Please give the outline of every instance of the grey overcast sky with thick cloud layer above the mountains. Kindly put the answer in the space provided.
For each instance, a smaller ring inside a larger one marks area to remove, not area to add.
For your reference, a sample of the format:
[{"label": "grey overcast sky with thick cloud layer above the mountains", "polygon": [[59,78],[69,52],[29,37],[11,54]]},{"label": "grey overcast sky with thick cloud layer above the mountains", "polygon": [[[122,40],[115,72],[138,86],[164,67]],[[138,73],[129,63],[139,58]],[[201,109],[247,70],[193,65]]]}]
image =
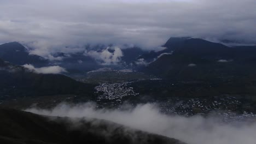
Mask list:
[{"label": "grey overcast sky with thick cloud layer above the mountains", "polygon": [[182,36],[255,43],[255,8],[255,0],[0,0],[0,43],[30,43],[40,55],[86,43],[154,49]]}]

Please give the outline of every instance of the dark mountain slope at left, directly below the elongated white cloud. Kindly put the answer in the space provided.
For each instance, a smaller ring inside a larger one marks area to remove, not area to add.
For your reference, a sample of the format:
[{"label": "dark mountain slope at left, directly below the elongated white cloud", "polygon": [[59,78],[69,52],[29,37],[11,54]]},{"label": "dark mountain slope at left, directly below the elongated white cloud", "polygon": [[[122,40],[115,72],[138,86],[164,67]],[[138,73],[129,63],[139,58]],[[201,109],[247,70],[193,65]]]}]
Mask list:
[{"label": "dark mountain slope at left, directly below the elongated white cloud", "polygon": [[53,94],[91,94],[91,85],[59,74],[36,74],[0,59],[0,96],[28,97]]}]

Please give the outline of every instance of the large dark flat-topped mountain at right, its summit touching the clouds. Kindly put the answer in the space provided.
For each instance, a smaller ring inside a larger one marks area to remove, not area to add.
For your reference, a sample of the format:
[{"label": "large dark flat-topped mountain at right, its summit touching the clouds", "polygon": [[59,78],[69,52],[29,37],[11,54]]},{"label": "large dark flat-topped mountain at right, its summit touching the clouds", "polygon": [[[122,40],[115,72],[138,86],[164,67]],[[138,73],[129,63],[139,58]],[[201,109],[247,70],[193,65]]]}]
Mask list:
[{"label": "large dark flat-topped mountain at right, its summit touching the clouds", "polygon": [[202,39],[173,38],[167,41],[166,50],[144,70],[147,73],[179,80],[234,79],[255,72],[256,49],[228,47]]}]

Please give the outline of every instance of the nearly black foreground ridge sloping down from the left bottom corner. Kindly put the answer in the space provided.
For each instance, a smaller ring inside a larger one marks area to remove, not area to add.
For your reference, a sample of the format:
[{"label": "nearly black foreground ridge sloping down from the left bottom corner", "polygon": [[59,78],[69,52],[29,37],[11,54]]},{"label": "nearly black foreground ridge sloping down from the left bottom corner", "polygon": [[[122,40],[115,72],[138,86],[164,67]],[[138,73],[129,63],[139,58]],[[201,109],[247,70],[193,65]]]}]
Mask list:
[{"label": "nearly black foreground ridge sloping down from the left bottom corner", "polygon": [[98,119],[45,117],[0,109],[0,143],[168,143],[175,139],[132,130]]}]

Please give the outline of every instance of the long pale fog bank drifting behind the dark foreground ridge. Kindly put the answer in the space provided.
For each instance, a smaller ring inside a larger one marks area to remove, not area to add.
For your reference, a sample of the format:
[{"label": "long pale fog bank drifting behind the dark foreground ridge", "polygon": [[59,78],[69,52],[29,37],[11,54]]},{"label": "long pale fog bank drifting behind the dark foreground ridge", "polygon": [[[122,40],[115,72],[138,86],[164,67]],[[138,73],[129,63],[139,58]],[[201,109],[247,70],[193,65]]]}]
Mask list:
[{"label": "long pale fog bank drifting behind the dark foreground ridge", "polygon": [[148,131],[189,144],[254,144],[256,123],[223,123],[216,117],[183,117],[160,113],[152,104],[119,110],[97,109],[94,104],[60,104],[51,110],[27,109],[40,115],[106,119],[131,128]]}]

